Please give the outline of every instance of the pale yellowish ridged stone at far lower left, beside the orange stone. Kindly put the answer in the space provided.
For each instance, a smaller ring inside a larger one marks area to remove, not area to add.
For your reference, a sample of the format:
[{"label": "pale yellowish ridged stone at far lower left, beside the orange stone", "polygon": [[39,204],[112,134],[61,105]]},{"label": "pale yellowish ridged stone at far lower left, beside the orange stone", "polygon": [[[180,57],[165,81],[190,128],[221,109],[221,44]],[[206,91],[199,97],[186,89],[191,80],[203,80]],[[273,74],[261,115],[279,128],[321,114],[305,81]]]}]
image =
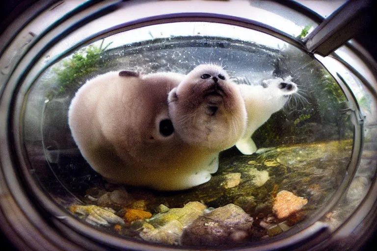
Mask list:
[{"label": "pale yellowish ridged stone at far lower left, beside the orange stone", "polygon": [[96,205],[72,205],[69,210],[80,215],[85,222],[94,226],[110,226],[111,224],[125,225],[122,218],[116,216],[108,208]]}]

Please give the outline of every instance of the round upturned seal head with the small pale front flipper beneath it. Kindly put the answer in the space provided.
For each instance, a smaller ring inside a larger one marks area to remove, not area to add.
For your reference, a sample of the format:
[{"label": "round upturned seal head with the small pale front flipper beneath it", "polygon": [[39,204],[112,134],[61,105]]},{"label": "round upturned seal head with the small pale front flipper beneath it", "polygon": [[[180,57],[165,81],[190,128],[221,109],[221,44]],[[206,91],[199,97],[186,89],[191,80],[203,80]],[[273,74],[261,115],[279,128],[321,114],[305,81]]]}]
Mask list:
[{"label": "round upturned seal head with the small pale front flipper beneath it", "polygon": [[[175,133],[195,152],[182,182],[207,182],[218,169],[218,153],[234,146],[246,128],[240,89],[221,67],[203,64],[169,93],[168,102]],[[196,158],[207,160],[195,166]]]}]

